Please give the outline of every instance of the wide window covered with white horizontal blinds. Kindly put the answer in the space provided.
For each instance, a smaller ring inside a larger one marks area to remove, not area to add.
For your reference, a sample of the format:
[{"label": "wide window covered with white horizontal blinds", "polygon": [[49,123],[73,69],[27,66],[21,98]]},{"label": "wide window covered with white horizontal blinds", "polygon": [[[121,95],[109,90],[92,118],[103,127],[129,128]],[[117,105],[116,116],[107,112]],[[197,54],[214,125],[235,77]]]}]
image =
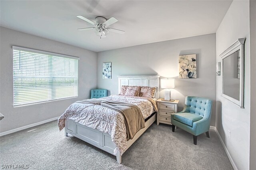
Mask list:
[{"label": "wide window covered with white horizontal blinds", "polygon": [[78,57],[12,48],[14,106],[78,96]]}]

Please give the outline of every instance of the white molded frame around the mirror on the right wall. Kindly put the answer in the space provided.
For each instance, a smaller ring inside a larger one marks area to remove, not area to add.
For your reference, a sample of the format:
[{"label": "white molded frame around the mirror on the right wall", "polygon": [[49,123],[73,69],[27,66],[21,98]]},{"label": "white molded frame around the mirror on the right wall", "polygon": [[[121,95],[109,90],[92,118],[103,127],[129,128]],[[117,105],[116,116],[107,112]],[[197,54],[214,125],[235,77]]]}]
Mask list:
[{"label": "white molded frame around the mirror on the right wall", "polygon": [[[221,96],[228,99],[229,101],[235,103],[236,105],[244,108],[244,42],[245,38],[240,38],[238,41],[233,43],[228,49],[226,49],[223,53],[219,55],[222,58],[222,94]],[[239,101],[234,99],[228,95],[224,94],[224,85],[223,85],[223,59],[231,55],[232,53],[240,50],[240,92],[239,92]]]}]

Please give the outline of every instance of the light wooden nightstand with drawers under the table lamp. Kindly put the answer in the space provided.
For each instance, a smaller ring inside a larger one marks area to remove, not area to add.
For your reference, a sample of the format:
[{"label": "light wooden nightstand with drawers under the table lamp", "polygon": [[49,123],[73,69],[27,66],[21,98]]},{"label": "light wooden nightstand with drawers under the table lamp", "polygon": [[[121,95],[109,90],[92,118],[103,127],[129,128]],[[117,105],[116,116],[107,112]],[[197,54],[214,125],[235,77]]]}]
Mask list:
[{"label": "light wooden nightstand with drawers under the table lamp", "polygon": [[171,114],[177,112],[179,101],[175,100],[173,102],[169,102],[169,101],[162,101],[161,99],[158,99],[156,102],[157,102],[157,108],[158,108],[157,125],[159,125],[159,123],[172,125]]}]

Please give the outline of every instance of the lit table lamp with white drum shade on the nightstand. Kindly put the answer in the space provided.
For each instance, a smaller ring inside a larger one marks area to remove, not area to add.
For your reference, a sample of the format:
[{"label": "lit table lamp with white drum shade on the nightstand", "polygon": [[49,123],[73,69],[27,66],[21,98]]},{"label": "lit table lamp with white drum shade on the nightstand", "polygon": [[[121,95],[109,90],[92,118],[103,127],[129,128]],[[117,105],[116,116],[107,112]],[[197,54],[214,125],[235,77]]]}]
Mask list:
[{"label": "lit table lamp with white drum shade on the nightstand", "polygon": [[161,79],[161,88],[165,89],[162,101],[174,101],[171,99],[171,89],[175,88],[175,79]]}]

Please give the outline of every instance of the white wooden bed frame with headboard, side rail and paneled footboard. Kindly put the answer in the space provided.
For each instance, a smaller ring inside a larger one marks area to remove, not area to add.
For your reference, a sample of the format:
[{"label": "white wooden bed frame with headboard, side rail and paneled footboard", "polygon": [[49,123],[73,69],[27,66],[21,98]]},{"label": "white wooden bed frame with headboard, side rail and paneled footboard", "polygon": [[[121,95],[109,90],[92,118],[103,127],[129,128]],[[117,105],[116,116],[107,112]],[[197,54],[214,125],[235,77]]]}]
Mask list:
[{"label": "white wooden bed frame with headboard, side rail and paneled footboard", "polygon": [[[118,93],[122,88],[122,85],[138,85],[146,87],[157,87],[155,98],[159,98],[159,76],[147,75],[147,76],[118,76]],[[127,141],[126,150],[156,121],[157,114],[154,114],[145,123],[145,128],[140,129],[134,136],[134,138]],[[85,142],[88,142],[106,152],[114,155],[114,149],[116,148],[114,142],[111,139],[110,134],[100,132],[92,128],[88,128],[84,125],[76,123],[75,121],[66,119],[65,121],[65,135],[71,134]],[[122,156],[117,150],[115,154],[117,162],[122,162]]]}]

